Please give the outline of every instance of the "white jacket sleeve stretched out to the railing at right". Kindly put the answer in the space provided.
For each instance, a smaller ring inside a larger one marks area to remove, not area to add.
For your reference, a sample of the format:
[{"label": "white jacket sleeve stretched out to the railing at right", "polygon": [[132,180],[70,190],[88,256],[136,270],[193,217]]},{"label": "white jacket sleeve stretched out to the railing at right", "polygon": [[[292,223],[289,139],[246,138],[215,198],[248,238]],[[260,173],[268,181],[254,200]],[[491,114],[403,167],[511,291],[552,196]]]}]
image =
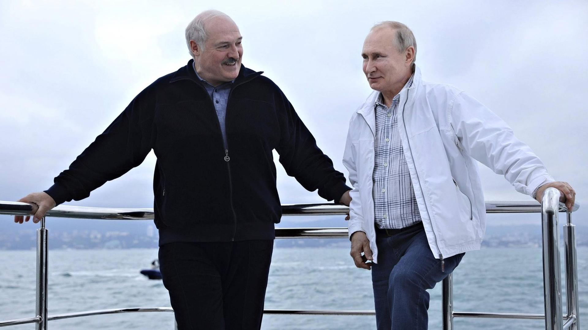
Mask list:
[{"label": "white jacket sleeve stretched out to the railing at right", "polygon": [[465,92],[457,94],[450,105],[449,122],[463,149],[505,176],[520,193],[532,196],[541,184],[554,181],[533,150],[500,117]]}]

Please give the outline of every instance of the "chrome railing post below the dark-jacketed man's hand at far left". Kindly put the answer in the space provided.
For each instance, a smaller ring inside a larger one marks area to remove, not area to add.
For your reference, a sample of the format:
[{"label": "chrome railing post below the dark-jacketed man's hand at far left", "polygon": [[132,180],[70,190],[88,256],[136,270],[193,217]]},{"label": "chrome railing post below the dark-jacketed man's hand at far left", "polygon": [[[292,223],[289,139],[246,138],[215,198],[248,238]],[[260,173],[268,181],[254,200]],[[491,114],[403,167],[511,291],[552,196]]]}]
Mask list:
[{"label": "chrome railing post below the dark-jacketed man's hand at far left", "polygon": [[36,262],[36,315],[39,323],[36,330],[47,329],[47,230],[45,217],[41,218],[41,228],[37,230],[37,262]]}]

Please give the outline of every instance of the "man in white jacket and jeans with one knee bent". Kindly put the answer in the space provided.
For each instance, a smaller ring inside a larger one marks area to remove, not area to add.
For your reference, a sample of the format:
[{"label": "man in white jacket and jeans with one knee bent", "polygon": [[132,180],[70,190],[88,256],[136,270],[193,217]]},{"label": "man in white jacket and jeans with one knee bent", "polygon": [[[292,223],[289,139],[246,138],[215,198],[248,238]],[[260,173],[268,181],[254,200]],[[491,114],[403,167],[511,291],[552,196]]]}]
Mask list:
[{"label": "man in white jacket and jeans with one knee bent", "polygon": [[475,160],[539,201],[556,187],[571,209],[576,193],[480,102],[423,82],[406,25],[374,26],[362,57],[375,91],[353,113],[343,156],[353,184],[350,254],[372,270],[377,329],[426,329],[426,290],[478,250],[485,233]]}]

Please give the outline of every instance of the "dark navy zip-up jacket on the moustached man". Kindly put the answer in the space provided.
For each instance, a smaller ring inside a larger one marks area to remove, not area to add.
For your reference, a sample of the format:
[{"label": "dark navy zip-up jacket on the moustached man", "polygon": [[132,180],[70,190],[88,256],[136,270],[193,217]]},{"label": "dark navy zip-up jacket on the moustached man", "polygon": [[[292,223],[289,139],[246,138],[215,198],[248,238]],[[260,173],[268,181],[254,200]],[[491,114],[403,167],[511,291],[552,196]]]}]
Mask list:
[{"label": "dark navy zip-up jacket on the moustached man", "polygon": [[272,150],[289,176],[326,200],[350,188],[316,146],[286,96],[262,72],[241,66],[226,107],[215,107],[188,65],[146,87],[45,192],[81,200],[139,166],[153,149],[159,244],[275,238],[282,208]]}]

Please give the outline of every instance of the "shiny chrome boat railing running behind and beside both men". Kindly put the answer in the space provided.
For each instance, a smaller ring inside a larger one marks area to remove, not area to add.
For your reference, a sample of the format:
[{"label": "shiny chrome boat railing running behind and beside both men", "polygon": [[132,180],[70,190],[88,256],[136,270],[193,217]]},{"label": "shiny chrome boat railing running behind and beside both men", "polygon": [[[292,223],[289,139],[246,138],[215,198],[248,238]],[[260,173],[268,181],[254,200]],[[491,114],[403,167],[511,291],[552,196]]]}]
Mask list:
[{"label": "shiny chrome boat railing running behind and beside both men", "polygon": [[[553,191],[554,190],[554,191]],[[549,188],[543,197],[543,205],[536,201],[487,201],[486,213],[542,213],[543,219],[543,266],[545,314],[510,314],[489,312],[455,312],[453,311],[452,275],[443,280],[443,329],[453,329],[453,318],[517,318],[545,319],[546,329],[579,329],[576,241],[572,214],[567,212],[567,224],[564,225],[566,250],[566,289],[567,315],[562,314],[561,283],[559,273],[559,254],[557,249],[557,211],[567,211],[559,203],[559,191]],[[559,204],[558,204],[559,203]],[[573,211],[579,206],[576,204]],[[0,201],[0,214],[26,215],[31,212],[29,204]],[[557,211],[556,211],[557,210]],[[345,215],[349,208],[337,204],[286,204],[282,206],[283,215]],[[78,206],[58,206],[46,214],[47,217],[113,219],[113,220],[151,220],[152,208],[98,208]],[[547,225],[546,225],[547,224]],[[347,228],[276,228],[276,238],[346,238]],[[547,242],[547,243],[546,243]],[[546,250],[547,247],[547,250]],[[47,322],[56,319],[76,318],[81,316],[119,314],[131,312],[173,312],[171,307],[138,307],[99,309],[95,311],[72,312],[48,315],[47,311],[47,230],[45,218],[37,230],[37,285],[36,316],[31,318],[0,321],[1,326],[35,323],[37,330],[45,330]],[[300,309],[266,309],[264,314],[300,314],[300,315],[375,315],[375,311],[352,310],[300,310]],[[547,317],[546,317],[547,315]],[[569,315],[569,316],[568,316]],[[563,321],[566,321],[563,323]]]}]

